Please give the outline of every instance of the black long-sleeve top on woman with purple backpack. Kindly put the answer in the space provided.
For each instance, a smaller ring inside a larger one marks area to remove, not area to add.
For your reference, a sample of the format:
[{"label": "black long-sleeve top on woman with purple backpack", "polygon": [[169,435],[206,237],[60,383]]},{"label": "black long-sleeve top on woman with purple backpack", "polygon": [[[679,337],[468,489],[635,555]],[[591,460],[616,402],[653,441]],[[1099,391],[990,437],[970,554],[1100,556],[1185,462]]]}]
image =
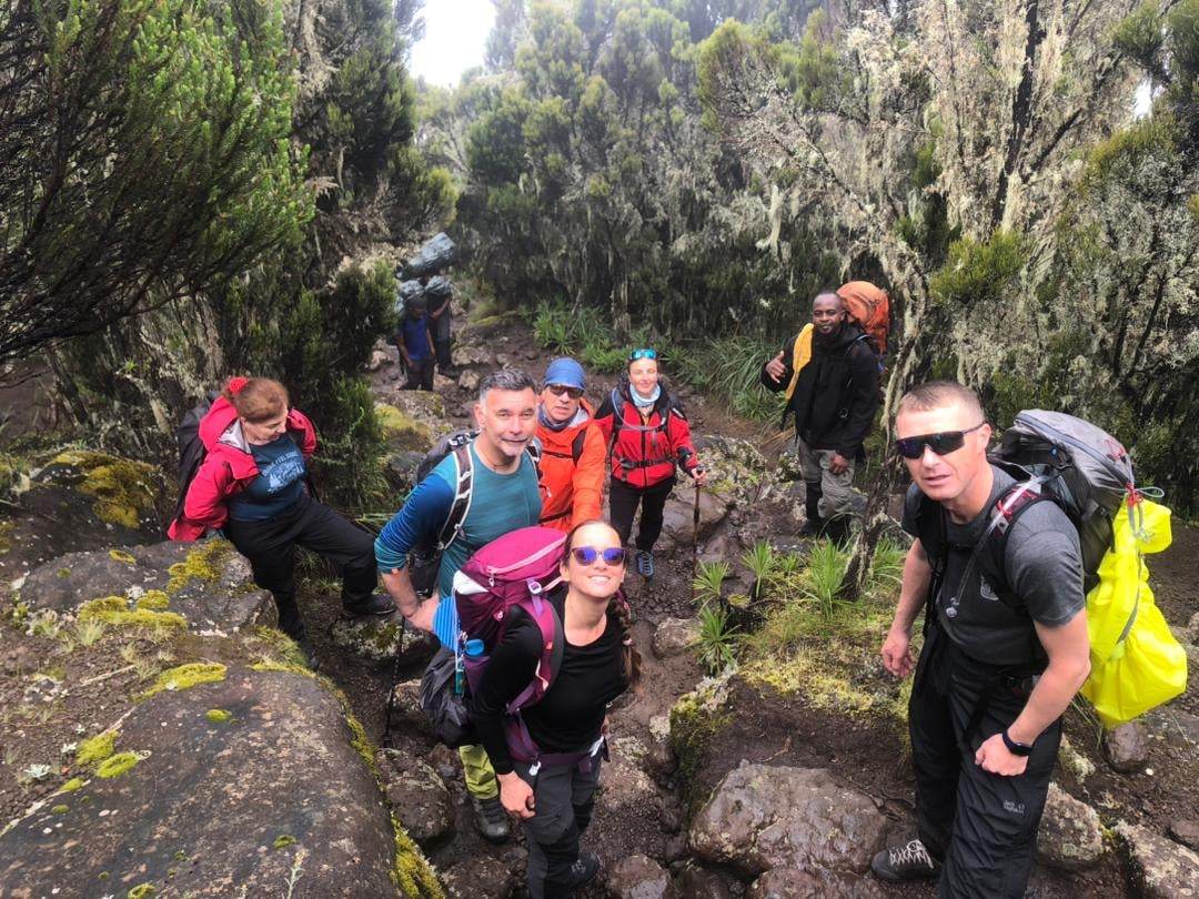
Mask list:
[{"label": "black long-sleeve top on woman with purple backpack", "polygon": [[[566,587],[549,595],[559,620],[565,620]],[[478,692],[470,700],[483,748],[496,774],[512,771],[512,756],[504,736],[504,711],[532,681],[541,658],[541,629],[523,610],[513,607],[504,639],[492,653]],[[615,614],[608,613],[603,634],[586,646],[566,644],[561,668],[540,702],[520,711],[529,736],[542,753],[586,749],[600,737],[608,704],[625,692],[625,632]]]}]

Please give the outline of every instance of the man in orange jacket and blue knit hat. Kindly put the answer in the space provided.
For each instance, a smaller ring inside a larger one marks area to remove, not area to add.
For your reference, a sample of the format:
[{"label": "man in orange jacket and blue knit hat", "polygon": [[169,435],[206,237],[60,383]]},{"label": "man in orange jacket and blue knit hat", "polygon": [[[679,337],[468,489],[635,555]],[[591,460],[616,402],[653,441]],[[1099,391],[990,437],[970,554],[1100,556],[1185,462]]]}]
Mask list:
[{"label": "man in orange jacket and blue knit hat", "polygon": [[541,440],[541,524],[570,531],[600,518],[607,444],[583,398],[583,366],[556,358],[546,369],[537,405]]}]

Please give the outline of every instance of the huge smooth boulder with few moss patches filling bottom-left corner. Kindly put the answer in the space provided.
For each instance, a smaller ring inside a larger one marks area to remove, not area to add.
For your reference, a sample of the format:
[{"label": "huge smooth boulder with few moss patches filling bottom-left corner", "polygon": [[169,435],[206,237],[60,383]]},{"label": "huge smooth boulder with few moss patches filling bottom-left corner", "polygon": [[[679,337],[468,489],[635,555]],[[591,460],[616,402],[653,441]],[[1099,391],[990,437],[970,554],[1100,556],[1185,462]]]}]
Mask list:
[{"label": "huge smooth boulder with few moss patches filling bottom-left corner", "polygon": [[6,894],[281,895],[290,877],[394,894],[391,820],[341,701],[290,671],[205,671],[91,741],[78,789],[0,837]]}]

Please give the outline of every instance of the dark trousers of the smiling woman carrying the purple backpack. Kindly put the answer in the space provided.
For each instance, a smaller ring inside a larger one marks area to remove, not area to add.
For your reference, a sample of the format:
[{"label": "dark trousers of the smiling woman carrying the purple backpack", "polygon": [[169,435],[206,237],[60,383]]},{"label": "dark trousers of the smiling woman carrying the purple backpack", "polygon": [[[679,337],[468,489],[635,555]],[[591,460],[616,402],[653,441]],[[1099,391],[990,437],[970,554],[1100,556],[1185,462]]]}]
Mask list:
[{"label": "dark trousers of the smiling woman carrying the purple backpack", "polygon": [[529,844],[529,899],[570,895],[571,865],[579,857],[583,832],[591,823],[602,753],[582,765],[542,766],[513,762],[514,771],[532,788],[536,814],[520,822]]}]

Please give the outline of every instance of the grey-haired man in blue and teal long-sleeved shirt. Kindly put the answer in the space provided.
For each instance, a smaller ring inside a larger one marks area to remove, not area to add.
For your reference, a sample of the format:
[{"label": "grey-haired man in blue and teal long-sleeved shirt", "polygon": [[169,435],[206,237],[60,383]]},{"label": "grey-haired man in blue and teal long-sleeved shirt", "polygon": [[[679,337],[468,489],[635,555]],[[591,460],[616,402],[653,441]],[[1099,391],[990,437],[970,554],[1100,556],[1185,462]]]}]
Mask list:
[{"label": "grey-haired man in blue and teal long-sleeved shirt", "polygon": [[[477,549],[508,531],[537,524],[541,495],[537,471],[526,448],[537,429],[537,393],[524,372],[502,369],[483,379],[475,404],[478,436],[469,447],[472,485],[469,508],[454,539],[445,548],[436,596],[421,601],[406,569],[408,554],[422,539],[436,538],[448,519],[458,484],[453,453],[416,485],[403,508],[375,541],[375,560],[384,586],[415,626],[432,630],[444,646],[458,644],[453,575]],[[439,602],[446,597],[446,602]],[[489,840],[508,835],[508,819],[499,801],[495,772],[482,747],[458,750],[480,832]]]}]

